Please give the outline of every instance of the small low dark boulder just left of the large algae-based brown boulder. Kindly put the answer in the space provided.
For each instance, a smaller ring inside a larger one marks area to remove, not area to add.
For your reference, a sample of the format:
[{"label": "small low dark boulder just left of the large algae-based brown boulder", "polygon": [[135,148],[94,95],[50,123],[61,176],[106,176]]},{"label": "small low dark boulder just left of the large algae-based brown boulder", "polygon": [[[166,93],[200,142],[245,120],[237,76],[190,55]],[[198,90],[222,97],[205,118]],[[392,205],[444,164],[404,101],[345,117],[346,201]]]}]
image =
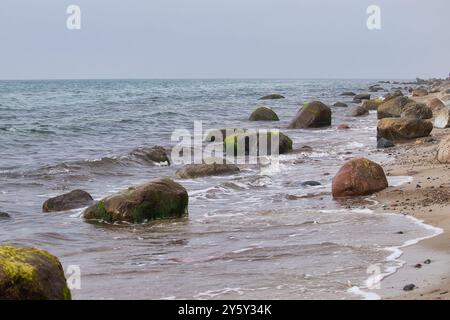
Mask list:
[{"label": "small low dark boulder just left of the large algae-based brown boulder", "polygon": [[50,198],[42,205],[44,212],[67,211],[91,205],[92,196],[83,190],[73,190],[60,196]]}]

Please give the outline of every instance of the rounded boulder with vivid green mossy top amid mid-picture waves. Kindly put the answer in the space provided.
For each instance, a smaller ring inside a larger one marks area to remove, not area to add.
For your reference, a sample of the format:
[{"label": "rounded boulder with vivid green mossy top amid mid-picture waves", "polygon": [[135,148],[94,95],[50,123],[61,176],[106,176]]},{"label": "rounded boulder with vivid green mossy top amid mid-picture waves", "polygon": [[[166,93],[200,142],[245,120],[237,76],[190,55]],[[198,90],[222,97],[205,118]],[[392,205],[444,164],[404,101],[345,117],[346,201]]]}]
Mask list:
[{"label": "rounded boulder with vivid green mossy top amid mid-picture waves", "polygon": [[[234,150],[234,155],[271,155],[276,151],[272,148],[272,140],[278,140],[278,153],[284,154],[292,151],[292,139],[281,132],[267,131],[266,134],[260,131],[244,130],[236,131],[235,134],[228,134],[224,139],[224,152],[227,154],[230,150]],[[230,147],[232,146],[232,147]],[[262,150],[267,151],[262,154]],[[241,154],[242,152],[242,154]]]}]

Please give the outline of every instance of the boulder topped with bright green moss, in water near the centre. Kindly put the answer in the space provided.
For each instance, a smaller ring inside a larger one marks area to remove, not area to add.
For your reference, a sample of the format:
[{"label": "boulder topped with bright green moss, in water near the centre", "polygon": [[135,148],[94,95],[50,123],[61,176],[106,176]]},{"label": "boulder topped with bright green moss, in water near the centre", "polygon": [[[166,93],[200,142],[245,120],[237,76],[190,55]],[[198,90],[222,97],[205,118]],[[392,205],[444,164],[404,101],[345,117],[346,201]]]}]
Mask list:
[{"label": "boulder topped with bright green moss, in water near the centre", "polygon": [[[235,131],[235,134],[231,134],[225,137],[224,139],[224,152],[227,152],[227,145],[233,145],[234,154],[237,154],[239,144],[244,145],[244,151],[245,155],[250,154],[250,150],[257,151],[257,154],[252,154],[252,156],[260,155],[260,142],[266,141],[266,150],[267,154],[264,155],[271,155],[272,154],[272,132],[268,131],[266,135],[261,136],[259,131],[253,131],[253,130],[241,130],[241,131]],[[227,134],[225,132],[225,134]],[[284,154],[288,153],[289,151],[292,151],[292,145],[293,142],[291,138],[289,138],[287,135],[278,132],[278,153]],[[274,137],[275,138],[275,137]],[[266,140],[264,140],[266,139]],[[261,140],[261,141],[260,141]],[[243,156],[243,154],[242,154]]]}]

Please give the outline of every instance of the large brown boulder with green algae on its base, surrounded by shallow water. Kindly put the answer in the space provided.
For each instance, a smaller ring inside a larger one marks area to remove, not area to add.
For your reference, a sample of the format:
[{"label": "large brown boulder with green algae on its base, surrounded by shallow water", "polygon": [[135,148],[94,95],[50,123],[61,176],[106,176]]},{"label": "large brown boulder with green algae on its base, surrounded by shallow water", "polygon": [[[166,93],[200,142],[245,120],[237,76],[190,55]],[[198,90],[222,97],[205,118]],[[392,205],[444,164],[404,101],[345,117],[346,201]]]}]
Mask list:
[{"label": "large brown boulder with green algae on its base, surrounded by shallow water", "polygon": [[87,208],[83,216],[87,220],[129,223],[181,218],[188,214],[188,202],[183,186],[163,178],[106,197]]}]

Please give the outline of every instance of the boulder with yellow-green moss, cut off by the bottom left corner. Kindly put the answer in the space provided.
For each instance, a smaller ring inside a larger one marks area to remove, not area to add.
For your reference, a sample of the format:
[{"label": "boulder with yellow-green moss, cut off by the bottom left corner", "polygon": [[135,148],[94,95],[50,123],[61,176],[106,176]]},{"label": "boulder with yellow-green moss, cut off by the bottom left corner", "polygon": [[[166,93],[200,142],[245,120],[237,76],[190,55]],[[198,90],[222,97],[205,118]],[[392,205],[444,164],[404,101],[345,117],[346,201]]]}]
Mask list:
[{"label": "boulder with yellow-green moss, cut off by the bottom left corner", "polygon": [[35,248],[0,246],[0,300],[70,300],[58,258]]}]

